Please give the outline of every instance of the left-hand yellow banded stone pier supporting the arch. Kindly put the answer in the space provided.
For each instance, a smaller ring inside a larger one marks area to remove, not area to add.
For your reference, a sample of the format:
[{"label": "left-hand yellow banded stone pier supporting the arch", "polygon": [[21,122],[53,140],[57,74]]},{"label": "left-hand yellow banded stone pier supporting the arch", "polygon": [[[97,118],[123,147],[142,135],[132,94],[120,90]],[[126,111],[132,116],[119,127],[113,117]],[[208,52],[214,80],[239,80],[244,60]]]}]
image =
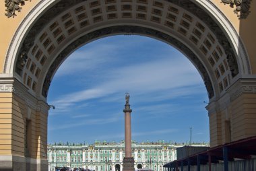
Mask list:
[{"label": "left-hand yellow banded stone pier supporting the arch", "polygon": [[42,138],[36,131],[36,114],[46,114],[47,120],[47,107],[17,79],[0,79],[0,158],[5,159],[0,160],[0,170],[48,170],[47,141],[44,158],[38,158],[36,147]]}]

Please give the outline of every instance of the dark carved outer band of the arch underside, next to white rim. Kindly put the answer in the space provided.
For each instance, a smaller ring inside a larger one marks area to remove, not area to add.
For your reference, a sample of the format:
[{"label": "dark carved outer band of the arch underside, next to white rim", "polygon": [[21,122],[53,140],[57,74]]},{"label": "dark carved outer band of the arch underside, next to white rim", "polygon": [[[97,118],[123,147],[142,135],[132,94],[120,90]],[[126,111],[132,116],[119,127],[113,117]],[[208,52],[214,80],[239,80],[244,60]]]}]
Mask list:
[{"label": "dark carved outer band of the arch underside, next to white rim", "polygon": [[[59,13],[65,11],[69,7],[81,3],[83,0],[77,0],[77,1],[70,1],[70,0],[62,0],[59,3],[56,3],[51,9],[46,11],[42,17],[38,19],[38,21],[32,26],[30,32],[28,33],[27,38],[22,43],[22,47],[20,49],[20,52],[18,53],[18,61],[15,66],[15,71],[19,75],[22,73],[24,61],[26,62],[26,54],[28,54],[28,51],[30,48],[32,48],[34,44],[34,40],[36,37],[36,32],[40,31],[42,29],[42,24],[48,23],[51,18],[55,17]],[[209,28],[212,28],[212,31],[214,32],[215,36],[218,38],[220,44],[225,49],[225,53],[227,55],[228,59],[228,65],[230,67],[230,71],[232,73],[232,77],[235,77],[238,74],[238,64],[236,61],[236,57],[234,55],[232,46],[230,45],[230,42],[222,32],[221,28],[214,22],[214,20],[210,17],[208,13],[203,11],[200,7],[198,7],[195,3],[191,2],[190,0],[183,0],[183,1],[176,1],[176,0],[166,0],[170,3],[174,3],[175,5],[178,5],[180,7],[183,7],[187,11],[190,11],[194,15],[196,15],[199,19],[201,19]],[[25,57],[24,57],[25,55]],[[25,59],[25,60],[24,60]]]}]

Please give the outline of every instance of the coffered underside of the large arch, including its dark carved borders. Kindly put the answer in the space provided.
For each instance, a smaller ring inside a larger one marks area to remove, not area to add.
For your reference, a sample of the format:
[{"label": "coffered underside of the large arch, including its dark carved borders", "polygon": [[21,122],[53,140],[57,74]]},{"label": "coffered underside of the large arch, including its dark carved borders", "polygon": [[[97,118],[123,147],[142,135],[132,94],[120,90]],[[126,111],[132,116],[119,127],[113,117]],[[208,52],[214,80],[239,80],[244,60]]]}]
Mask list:
[{"label": "coffered underside of the large arch, including its dark carved borders", "polygon": [[181,50],[201,74],[210,100],[224,94],[241,72],[250,73],[228,34],[194,1],[62,0],[50,6],[26,32],[13,63],[14,75],[43,100],[74,50],[117,34],[150,36]]}]

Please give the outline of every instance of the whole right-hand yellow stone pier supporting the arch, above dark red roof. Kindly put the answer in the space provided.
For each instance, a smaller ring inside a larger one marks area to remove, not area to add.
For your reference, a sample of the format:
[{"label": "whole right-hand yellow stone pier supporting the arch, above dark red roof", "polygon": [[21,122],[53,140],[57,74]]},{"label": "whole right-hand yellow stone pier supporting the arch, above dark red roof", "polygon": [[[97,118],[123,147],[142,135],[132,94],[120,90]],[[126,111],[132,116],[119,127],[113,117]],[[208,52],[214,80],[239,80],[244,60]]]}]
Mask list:
[{"label": "whole right-hand yellow stone pier supporting the arch, above dark red roof", "polygon": [[238,79],[207,107],[211,147],[256,135],[256,79]]}]

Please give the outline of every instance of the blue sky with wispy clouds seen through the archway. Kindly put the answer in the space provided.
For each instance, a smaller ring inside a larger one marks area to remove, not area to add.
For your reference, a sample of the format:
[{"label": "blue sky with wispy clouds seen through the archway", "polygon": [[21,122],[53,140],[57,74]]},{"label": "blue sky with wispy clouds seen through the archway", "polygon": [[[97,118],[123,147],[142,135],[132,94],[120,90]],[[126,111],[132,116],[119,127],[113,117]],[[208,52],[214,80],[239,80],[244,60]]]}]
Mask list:
[{"label": "blue sky with wispy clouds seen through the archway", "polygon": [[144,36],[110,36],[75,50],[49,90],[48,142],[124,139],[125,92],[135,141],[209,141],[207,92],[193,64]]}]

